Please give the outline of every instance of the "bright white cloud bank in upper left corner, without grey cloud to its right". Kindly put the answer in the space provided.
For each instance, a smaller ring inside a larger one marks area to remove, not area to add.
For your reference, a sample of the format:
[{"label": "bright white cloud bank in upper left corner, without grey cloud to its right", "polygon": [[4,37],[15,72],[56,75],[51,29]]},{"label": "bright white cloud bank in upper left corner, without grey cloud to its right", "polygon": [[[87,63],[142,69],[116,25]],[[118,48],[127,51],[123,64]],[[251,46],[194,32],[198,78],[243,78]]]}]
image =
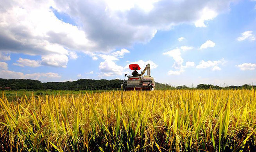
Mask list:
[{"label": "bright white cloud bank in upper left corner, without grey cloud to its right", "polygon": [[[54,5],[50,0],[1,3],[1,51],[45,58],[48,55],[68,55],[67,49],[90,50],[88,48],[94,43],[77,26],[59,20],[52,10]],[[71,53],[71,58],[74,57],[74,53]],[[62,62],[58,58],[52,59]],[[63,63],[56,65],[65,67]]]}]

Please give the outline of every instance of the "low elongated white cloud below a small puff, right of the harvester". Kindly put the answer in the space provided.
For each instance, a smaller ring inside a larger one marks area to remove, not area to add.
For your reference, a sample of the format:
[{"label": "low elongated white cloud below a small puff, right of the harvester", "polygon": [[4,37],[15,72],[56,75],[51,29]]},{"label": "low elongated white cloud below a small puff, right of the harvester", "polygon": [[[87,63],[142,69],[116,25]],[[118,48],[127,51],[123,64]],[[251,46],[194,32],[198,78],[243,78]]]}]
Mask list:
[{"label": "low elongated white cloud below a small puff, right of the harvester", "polygon": [[226,63],[226,61],[224,60],[224,58],[222,60],[217,60],[217,61],[210,61],[208,60],[207,62],[205,62],[204,60],[202,60],[199,65],[196,66],[197,69],[205,69],[205,68],[212,68],[212,71],[216,71],[216,70],[221,70],[220,67],[218,66],[219,64],[224,64]]}]

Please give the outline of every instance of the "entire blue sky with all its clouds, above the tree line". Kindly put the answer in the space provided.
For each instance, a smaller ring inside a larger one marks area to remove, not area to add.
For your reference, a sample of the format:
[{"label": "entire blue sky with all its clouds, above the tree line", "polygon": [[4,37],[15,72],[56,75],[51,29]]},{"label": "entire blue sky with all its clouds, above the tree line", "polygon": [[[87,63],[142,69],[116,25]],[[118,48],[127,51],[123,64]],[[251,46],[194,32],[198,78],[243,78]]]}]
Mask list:
[{"label": "entire blue sky with all its clouds, above the tree line", "polygon": [[256,1],[1,2],[1,78],[256,84]]}]

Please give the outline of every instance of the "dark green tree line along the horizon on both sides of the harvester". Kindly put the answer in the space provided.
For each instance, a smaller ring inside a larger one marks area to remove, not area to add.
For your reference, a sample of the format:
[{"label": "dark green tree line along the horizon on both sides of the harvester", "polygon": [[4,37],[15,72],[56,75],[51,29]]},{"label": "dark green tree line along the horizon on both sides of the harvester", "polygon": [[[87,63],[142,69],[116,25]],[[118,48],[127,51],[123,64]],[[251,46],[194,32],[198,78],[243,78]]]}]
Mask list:
[{"label": "dark green tree line along the horizon on both sides of the harvester", "polygon": [[[121,87],[123,80],[91,80],[91,79],[79,79],[77,81],[66,82],[44,82],[30,79],[1,79],[0,88],[10,87],[12,90],[118,90]],[[218,85],[199,84],[197,87],[183,86],[171,86],[164,83],[155,82],[157,90],[172,90],[172,89],[251,89],[254,85],[242,85],[242,86],[225,86],[220,87]]]}]

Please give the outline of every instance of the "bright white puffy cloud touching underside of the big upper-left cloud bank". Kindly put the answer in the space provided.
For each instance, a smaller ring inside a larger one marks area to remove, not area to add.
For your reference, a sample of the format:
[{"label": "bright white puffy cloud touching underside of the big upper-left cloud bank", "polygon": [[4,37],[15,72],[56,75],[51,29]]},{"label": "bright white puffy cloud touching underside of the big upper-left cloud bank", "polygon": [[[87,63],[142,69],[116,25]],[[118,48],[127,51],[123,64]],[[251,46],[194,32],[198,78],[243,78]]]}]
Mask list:
[{"label": "bright white puffy cloud touching underside of the big upper-left cloud bank", "polygon": [[42,65],[50,65],[55,67],[67,67],[68,57],[61,54],[49,54],[41,57]]}]

